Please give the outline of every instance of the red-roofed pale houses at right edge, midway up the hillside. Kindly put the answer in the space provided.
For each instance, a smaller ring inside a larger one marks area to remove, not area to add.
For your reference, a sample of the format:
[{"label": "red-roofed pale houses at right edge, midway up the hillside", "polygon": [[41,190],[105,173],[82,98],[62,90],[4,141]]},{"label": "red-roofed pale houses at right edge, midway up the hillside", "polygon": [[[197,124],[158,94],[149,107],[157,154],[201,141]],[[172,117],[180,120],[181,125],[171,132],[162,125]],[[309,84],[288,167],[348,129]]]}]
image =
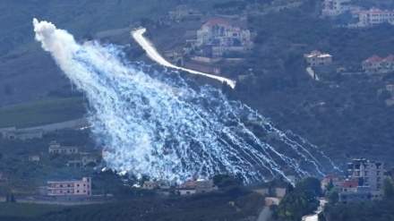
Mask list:
[{"label": "red-roofed pale houses at right edge, midway up the hillside", "polygon": [[394,55],[381,58],[373,55],[363,62],[363,70],[366,73],[394,72]]}]

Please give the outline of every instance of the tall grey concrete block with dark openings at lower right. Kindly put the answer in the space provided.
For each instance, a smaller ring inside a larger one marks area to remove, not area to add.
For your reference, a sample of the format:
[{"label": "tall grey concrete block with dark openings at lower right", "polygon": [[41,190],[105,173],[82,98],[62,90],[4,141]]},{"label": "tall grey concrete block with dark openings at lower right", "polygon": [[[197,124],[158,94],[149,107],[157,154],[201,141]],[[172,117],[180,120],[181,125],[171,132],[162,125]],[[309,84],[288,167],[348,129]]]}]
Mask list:
[{"label": "tall grey concrete block with dark openings at lower right", "polygon": [[361,186],[369,186],[371,191],[381,191],[384,163],[370,161],[364,157],[353,159],[347,164],[348,178],[357,181]]}]

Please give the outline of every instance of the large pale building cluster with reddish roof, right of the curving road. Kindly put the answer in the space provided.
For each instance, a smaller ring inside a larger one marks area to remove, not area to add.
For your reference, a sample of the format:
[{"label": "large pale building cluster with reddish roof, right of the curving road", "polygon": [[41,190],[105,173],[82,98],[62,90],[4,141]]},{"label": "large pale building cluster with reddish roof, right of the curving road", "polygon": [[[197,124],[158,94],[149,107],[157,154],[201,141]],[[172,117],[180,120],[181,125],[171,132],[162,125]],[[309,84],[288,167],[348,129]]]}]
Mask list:
[{"label": "large pale building cluster with reddish roof, right of the curving road", "polygon": [[202,47],[204,54],[209,56],[222,56],[227,52],[244,53],[253,49],[250,30],[221,19],[207,21],[202,25],[197,31],[196,45]]}]

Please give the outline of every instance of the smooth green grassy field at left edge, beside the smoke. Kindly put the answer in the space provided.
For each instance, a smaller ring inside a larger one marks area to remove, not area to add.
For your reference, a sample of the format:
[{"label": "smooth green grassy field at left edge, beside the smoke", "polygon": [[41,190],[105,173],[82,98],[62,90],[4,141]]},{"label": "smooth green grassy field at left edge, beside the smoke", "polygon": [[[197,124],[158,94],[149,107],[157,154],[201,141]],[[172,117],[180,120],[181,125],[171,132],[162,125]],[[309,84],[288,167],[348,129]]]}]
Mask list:
[{"label": "smooth green grassy field at left edge, beside the smoke", "polygon": [[83,98],[52,98],[0,108],[0,128],[72,120],[85,114]]}]

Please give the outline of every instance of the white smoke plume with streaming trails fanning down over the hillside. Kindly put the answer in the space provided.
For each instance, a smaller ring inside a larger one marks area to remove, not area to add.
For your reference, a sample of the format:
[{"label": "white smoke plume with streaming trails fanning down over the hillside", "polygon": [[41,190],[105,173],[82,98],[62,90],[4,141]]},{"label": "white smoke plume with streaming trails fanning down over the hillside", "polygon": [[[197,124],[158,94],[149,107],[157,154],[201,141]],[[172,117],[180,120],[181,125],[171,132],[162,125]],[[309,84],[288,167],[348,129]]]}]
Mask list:
[{"label": "white smoke plume with streaming trails fanning down over the hillside", "polygon": [[176,72],[127,62],[122,47],[80,45],[50,22],[33,24],[42,48],[84,92],[92,132],[116,171],[167,181],[231,173],[253,183],[338,170],[307,140],[218,89],[192,89]]}]

